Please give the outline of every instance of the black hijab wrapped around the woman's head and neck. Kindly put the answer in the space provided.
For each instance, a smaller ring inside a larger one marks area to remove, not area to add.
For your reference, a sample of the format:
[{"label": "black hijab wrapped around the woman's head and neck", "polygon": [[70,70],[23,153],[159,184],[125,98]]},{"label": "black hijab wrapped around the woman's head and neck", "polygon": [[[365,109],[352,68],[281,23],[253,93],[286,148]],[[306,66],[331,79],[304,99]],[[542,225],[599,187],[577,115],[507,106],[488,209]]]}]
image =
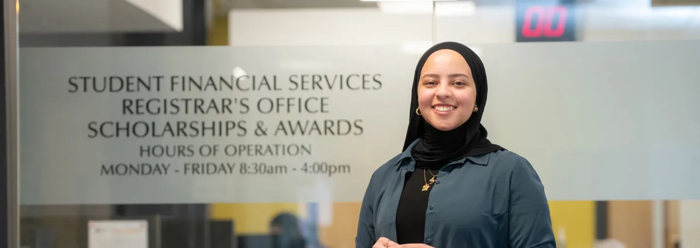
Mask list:
[{"label": "black hijab wrapped around the woman's head and neck", "polygon": [[[476,105],[479,110],[472,113],[472,116],[465,123],[454,130],[447,132],[437,130],[416,113],[418,108],[418,83],[421,77],[421,70],[426,64],[428,57],[437,50],[454,50],[467,61],[472,71],[474,83],[477,88]],[[413,90],[411,93],[411,107],[406,139],[403,144],[403,151],[416,139],[421,140],[412,151],[414,159],[424,163],[447,163],[451,160],[468,156],[477,156],[493,151],[505,150],[496,144],[491,144],[486,139],[486,128],[481,125],[481,118],[486,106],[486,70],[479,56],[474,51],[460,43],[443,42],[431,47],[423,54],[418,61],[413,78]]]}]

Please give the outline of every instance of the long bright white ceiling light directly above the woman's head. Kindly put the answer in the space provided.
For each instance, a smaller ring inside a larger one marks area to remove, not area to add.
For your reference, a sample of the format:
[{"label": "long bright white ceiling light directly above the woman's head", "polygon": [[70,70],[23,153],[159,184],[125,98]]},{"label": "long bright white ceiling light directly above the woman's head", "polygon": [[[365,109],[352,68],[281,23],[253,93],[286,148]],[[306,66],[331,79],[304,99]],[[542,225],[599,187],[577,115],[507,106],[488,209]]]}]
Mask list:
[{"label": "long bright white ceiling light directly above the woman's head", "polygon": [[[379,11],[387,15],[432,15],[432,1],[380,1]],[[437,16],[466,16],[476,11],[474,1],[444,1],[435,4]]]}]

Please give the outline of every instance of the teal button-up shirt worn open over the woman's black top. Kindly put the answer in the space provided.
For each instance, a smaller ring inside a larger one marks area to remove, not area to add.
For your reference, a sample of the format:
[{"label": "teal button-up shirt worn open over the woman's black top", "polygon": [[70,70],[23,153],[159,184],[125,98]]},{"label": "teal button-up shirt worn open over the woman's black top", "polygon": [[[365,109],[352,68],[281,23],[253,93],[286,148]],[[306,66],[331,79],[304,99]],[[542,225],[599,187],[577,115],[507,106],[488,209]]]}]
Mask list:
[{"label": "teal button-up shirt worn open over the woman's black top", "polygon": [[[360,209],[356,248],[379,237],[396,240],[396,208],[415,161],[406,151],[381,165]],[[556,247],[549,205],[537,172],[525,158],[495,151],[442,167],[426,209],[425,244],[447,247]]]}]

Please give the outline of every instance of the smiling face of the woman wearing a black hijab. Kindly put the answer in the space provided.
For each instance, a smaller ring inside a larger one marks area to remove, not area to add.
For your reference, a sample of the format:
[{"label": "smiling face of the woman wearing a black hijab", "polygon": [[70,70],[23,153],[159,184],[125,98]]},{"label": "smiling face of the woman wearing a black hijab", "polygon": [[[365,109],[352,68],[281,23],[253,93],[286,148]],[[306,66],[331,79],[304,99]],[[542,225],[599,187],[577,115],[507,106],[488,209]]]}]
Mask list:
[{"label": "smiling face of the woman wearing a black hijab", "polygon": [[454,50],[437,50],[428,57],[418,81],[418,106],[437,130],[453,130],[472,116],[477,88],[466,60]]}]

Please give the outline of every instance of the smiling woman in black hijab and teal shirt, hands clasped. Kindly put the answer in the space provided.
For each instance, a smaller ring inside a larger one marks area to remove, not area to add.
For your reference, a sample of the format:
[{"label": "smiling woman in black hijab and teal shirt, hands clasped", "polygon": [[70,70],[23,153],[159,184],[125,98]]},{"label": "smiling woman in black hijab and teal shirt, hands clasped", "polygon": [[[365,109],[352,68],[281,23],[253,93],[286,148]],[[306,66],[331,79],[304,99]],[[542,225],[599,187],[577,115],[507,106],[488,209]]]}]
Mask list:
[{"label": "smiling woman in black hijab and teal shirt, hands clasped", "polygon": [[486,139],[486,92],[470,48],[423,54],[404,151],[372,175],[356,247],[556,247],[537,172]]}]

